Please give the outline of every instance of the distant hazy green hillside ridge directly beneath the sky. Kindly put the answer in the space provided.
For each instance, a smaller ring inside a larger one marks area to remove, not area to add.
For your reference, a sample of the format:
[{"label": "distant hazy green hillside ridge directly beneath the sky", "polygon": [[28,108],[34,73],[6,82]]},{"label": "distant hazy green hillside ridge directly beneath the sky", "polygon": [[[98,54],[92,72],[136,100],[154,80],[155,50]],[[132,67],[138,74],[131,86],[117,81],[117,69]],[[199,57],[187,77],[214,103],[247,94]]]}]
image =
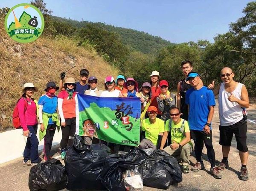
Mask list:
[{"label": "distant hazy green hillside ridge directly beneath the sky", "polygon": [[[53,20],[68,23],[74,27],[86,27],[87,21],[77,21],[61,17],[52,16]],[[136,31],[134,29],[126,29],[122,27],[115,27],[112,25],[107,25],[105,23],[91,23],[100,29],[104,29],[110,32],[115,32],[119,34],[122,43],[130,47],[132,51],[140,51],[145,54],[151,54],[163,48],[164,46],[172,45],[173,43],[163,40],[161,37],[152,36],[151,34],[145,33],[143,31]]]}]

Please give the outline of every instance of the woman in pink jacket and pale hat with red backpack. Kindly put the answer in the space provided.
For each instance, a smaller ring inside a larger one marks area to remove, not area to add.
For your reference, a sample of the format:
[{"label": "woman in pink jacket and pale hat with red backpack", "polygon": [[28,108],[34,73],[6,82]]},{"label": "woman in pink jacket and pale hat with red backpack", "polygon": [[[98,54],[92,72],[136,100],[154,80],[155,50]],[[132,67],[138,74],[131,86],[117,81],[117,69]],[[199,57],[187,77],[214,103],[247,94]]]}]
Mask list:
[{"label": "woman in pink jacket and pale hat with red backpack", "polygon": [[25,83],[23,86],[23,95],[17,103],[23,135],[27,137],[26,146],[23,153],[23,166],[37,165],[38,138],[36,132],[38,128],[37,106],[32,95],[38,89],[32,83]]}]

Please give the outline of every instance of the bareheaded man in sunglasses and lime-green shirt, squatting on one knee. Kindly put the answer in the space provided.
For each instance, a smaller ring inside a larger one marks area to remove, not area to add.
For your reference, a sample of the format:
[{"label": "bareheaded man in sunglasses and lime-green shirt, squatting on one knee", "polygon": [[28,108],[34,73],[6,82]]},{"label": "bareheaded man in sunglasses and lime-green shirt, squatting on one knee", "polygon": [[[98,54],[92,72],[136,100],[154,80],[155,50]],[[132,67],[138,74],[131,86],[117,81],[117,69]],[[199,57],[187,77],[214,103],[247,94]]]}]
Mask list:
[{"label": "bareheaded man in sunglasses and lime-green shirt, squatting on one knee", "polygon": [[189,124],[186,120],[180,118],[179,108],[172,108],[170,117],[171,119],[166,121],[160,149],[163,149],[167,136],[171,132],[172,144],[163,150],[179,160],[183,173],[189,173],[189,156],[193,151],[193,145],[190,142]]}]

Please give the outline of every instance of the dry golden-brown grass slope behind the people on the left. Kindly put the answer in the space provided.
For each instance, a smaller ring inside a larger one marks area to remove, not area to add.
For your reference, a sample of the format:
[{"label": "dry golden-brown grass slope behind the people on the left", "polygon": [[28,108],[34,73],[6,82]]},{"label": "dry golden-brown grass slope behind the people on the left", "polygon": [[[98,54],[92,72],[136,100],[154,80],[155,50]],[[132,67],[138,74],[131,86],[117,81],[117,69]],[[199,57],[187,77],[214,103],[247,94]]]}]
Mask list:
[{"label": "dry golden-brown grass slope behind the people on the left", "polygon": [[79,70],[87,68],[90,75],[99,80],[103,88],[107,75],[118,75],[118,70],[106,63],[94,50],[77,46],[75,40],[67,37],[50,39],[40,37],[33,43],[20,44],[12,40],[0,20],[0,131],[12,127],[12,111],[21,96],[23,84],[32,82],[38,87],[34,98],[44,94],[50,80],[59,83],[59,74],[72,66],[67,77],[79,80]]}]

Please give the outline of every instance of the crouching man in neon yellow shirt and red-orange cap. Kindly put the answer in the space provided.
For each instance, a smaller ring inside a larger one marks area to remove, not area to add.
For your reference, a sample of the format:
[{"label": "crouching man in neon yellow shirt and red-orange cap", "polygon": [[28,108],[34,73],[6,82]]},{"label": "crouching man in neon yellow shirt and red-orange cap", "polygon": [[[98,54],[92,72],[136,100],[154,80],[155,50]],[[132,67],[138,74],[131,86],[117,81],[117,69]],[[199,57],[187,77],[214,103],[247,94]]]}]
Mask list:
[{"label": "crouching man in neon yellow shirt and red-orange cap", "polygon": [[149,118],[142,121],[142,131],[145,131],[145,139],[140,142],[139,147],[142,149],[157,147],[158,136],[163,136],[164,121],[157,118],[157,108],[148,107]]}]

